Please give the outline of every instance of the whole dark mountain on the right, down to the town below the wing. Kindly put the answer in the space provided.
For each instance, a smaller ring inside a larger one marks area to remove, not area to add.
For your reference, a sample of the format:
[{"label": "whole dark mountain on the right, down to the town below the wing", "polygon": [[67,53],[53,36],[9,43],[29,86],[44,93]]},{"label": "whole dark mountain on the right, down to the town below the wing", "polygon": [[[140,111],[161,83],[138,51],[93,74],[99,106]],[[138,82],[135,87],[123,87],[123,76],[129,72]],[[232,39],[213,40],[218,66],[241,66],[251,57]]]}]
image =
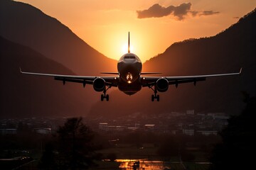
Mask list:
[{"label": "whole dark mountain on the right, down to the town below the wing", "polygon": [[[130,97],[113,91],[110,103],[95,104],[90,115],[115,118],[131,113],[150,115],[191,109],[203,113],[240,113],[244,107],[241,91],[256,95],[255,30],[254,10],[218,35],[176,42],[143,64],[144,72],[163,72],[163,76],[239,72],[242,67],[240,77],[209,78],[196,86],[180,84],[177,89],[169,86],[169,91],[159,93],[160,102],[151,102],[153,91],[147,88]],[[111,112],[102,114],[103,108]]]}]

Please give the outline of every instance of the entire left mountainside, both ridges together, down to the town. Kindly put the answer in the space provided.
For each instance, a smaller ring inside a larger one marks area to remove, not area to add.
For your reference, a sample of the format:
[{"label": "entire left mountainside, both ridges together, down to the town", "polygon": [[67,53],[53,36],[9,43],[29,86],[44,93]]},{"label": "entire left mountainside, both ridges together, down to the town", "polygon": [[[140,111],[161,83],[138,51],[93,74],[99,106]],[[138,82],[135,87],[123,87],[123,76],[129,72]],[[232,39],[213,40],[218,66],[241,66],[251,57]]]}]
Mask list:
[{"label": "entire left mountainside, both ridges together, down to the town", "polygon": [[29,4],[0,1],[0,36],[1,116],[83,116],[92,103],[100,100],[92,86],[83,89],[81,84],[63,86],[46,77],[21,77],[18,67],[53,74],[99,75],[117,71],[115,60]]}]

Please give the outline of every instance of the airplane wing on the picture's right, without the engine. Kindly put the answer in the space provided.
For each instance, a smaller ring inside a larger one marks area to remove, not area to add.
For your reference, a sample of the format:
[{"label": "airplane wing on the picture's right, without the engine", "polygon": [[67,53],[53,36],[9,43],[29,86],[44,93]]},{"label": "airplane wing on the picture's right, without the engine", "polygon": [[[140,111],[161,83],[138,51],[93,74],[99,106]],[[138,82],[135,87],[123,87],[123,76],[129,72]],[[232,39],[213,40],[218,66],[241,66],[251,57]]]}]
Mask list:
[{"label": "airplane wing on the picture's right, without the engine", "polygon": [[156,84],[156,81],[159,79],[166,79],[168,84],[175,84],[177,87],[178,84],[193,82],[196,85],[197,81],[205,81],[208,77],[225,77],[225,76],[234,76],[240,75],[242,72],[242,68],[240,72],[235,73],[226,73],[226,74],[208,74],[208,75],[196,75],[196,76],[182,76],[182,77],[142,77],[142,86],[152,87]]}]

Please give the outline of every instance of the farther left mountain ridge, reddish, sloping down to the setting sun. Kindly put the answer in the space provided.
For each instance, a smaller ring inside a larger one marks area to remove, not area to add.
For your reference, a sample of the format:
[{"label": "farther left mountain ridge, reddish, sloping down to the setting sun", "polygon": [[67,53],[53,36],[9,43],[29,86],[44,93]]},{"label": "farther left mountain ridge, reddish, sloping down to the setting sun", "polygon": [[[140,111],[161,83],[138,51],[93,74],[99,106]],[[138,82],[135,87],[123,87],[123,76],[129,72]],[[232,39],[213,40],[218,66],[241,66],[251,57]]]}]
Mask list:
[{"label": "farther left mountain ridge, reddish, sloping down to the setting sun", "polygon": [[[31,47],[76,74],[117,71],[115,60],[97,52],[60,21],[38,8],[11,0],[1,0],[0,8],[0,35],[7,40]],[[43,67],[40,71],[46,69]]]}]

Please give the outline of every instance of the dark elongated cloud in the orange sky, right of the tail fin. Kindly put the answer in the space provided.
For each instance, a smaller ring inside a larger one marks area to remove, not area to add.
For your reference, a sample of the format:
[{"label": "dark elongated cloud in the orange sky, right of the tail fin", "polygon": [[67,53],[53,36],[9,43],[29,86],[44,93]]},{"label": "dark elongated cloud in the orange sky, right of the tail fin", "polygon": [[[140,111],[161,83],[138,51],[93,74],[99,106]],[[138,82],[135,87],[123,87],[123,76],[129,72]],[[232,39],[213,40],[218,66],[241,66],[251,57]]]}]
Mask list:
[{"label": "dark elongated cloud in the orange sky, right of the tail fin", "polygon": [[219,12],[215,11],[191,11],[192,4],[190,2],[183,3],[179,6],[168,6],[164,7],[159,4],[154,4],[153,6],[145,9],[143,11],[137,11],[138,18],[160,18],[164,16],[173,15],[179,21],[183,20],[188,13],[194,16],[210,16],[217,14]]}]

